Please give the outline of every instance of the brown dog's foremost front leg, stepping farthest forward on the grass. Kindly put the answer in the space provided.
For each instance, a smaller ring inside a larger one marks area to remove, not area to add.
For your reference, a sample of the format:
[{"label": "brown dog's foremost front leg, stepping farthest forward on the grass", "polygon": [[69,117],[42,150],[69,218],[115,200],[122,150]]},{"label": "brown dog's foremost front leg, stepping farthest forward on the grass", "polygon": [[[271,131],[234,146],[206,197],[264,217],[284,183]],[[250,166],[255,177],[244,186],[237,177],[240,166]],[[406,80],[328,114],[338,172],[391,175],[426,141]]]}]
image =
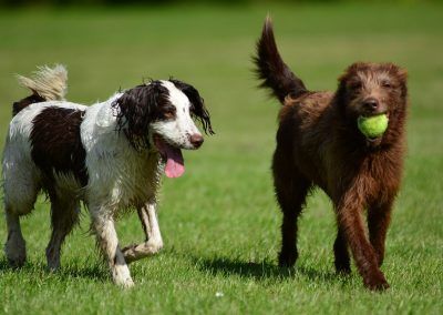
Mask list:
[{"label": "brown dog's foremost front leg, stepping farthest forward on the grass", "polygon": [[363,202],[359,194],[348,192],[337,205],[339,228],[344,233],[364,285],[370,289],[384,289],[389,284],[379,268],[374,248],[365,236],[362,210]]}]

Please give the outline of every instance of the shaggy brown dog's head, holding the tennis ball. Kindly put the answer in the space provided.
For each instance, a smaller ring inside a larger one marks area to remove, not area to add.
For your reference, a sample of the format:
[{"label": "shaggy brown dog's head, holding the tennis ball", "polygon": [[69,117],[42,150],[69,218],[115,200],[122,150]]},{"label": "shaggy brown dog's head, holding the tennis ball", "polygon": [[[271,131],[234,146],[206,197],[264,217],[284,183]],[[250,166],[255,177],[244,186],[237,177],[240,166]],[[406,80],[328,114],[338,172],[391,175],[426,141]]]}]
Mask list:
[{"label": "shaggy brown dog's head, holding the tennis ball", "polygon": [[381,138],[394,138],[399,124],[403,124],[408,103],[406,77],[406,71],[393,63],[353,63],[339,78],[337,103],[356,128],[359,116],[387,114],[387,132],[380,139],[373,139],[380,144]]}]

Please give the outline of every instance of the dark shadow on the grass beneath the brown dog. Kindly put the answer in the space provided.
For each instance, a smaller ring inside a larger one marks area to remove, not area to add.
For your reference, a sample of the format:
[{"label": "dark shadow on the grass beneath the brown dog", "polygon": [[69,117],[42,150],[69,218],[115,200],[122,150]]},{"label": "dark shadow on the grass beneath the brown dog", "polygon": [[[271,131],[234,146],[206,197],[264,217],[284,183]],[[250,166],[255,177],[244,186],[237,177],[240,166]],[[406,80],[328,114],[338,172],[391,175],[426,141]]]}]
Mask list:
[{"label": "dark shadow on the grass beneath the brown dog", "polygon": [[196,265],[206,272],[223,275],[238,275],[258,281],[269,278],[285,280],[306,277],[316,282],[337,282],[339,276],[333,272],[319,271],[310,266],[296,265],[295,267],[279,267],[278,265],[262,262],[243,262],[227,257],[195,258]]}]

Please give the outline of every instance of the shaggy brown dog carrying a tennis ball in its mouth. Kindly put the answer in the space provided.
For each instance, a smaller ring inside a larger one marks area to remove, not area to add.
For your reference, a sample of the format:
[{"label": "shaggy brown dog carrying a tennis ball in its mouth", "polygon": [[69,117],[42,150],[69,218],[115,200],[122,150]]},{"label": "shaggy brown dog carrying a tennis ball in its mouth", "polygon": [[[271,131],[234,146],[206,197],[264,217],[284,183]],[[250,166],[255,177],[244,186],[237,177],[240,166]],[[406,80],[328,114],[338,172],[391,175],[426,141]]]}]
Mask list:
[{"label": "shaggy brown dog carrying a tennis ball in its mouth", "polygon": [[[281,60],[270,19],[257,53],[261,87],[270,88],[284,105],[272,161],[284,213],[280,265],[291,266],[298,257],[297,219],[308,192],[318,186],[332,200],[337,214],[337,271],[350,272],[349,246],[364,285],[389,287],[380,266],[403,169],[406,72],[392,63],[354,63],[340,77],[336,93],[311,92]],[[365,138],[358,118],[381,113],[389,118],[387,131],[377,139]]]}]

